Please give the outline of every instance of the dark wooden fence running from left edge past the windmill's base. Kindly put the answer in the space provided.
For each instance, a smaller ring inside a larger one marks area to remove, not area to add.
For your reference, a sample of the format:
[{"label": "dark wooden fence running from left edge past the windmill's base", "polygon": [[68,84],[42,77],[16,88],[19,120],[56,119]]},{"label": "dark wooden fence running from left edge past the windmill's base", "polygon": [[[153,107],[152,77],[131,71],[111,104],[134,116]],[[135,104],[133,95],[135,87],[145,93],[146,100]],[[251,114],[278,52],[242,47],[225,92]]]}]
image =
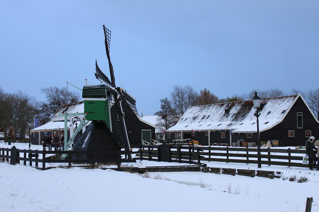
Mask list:
[{"label": "dark wooden fence running from left edge past the windmill's base", "polygon": [[[9,154],[10,153],[10,154]],[[62,154],[66,154],[66,159],[59,159]],[[73,159],[73,155],[88,155],[89,159]],[[126,159],[130,151],[122,150],[99,150],[99,151],[43,151],[43,150],[27,150],[17,149],[15,146],[12,148],[0,148],[0,162],[10,162],[10,164],[29,165],[41,170],[45,170],[47,163],[116,163],[118,168],[124,162],[136,162],[134,159]],[[23,155],[23,156],[21,156]],[[42,156],[39,159],[39,156]],[[46,155],[49,155],[46,157]],[[106,158],[105,155],[116,155],[116,159]],[[123,158],[122,158],[123,157]],[[40,164],[40,166],[39,166]],[[33,166],[34,165],[34,166]],[[50,167],[52,168],[52,167]]]}]

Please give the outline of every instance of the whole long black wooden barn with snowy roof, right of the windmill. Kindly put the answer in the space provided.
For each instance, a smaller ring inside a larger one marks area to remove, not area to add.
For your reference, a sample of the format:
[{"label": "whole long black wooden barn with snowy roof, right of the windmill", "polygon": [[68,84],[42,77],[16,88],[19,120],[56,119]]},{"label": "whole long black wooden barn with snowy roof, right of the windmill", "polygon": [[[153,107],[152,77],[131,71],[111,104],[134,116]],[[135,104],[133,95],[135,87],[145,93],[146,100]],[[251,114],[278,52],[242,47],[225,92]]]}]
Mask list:
[{"label": "whole long black wooden barn with snowy roof, right of the windmill", "polygon": [[[167,141],[190,138],[202,145],[231,145],[239,139],[257,142],[255,113],[252,100],[192,106],[167,129]],[[300,94],[274,97],[261,100],[259,129],[261,141],[298,146],[319,133],[319,121]]]}]

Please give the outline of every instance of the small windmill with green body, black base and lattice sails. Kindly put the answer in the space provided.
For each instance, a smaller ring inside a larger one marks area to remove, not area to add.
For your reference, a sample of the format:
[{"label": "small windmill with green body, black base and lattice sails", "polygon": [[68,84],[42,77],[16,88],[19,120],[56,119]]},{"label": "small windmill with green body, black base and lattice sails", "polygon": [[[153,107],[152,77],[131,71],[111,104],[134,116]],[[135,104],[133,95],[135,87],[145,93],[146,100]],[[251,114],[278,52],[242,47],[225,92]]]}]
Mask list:
[{"label": "small windmill with green body, black base and lattice sails", "polygon": [[[127,135],[122,103],[129,106],[137,114],[136,101],[121,87],[116,87],[113,65],[111,63],[109,47],[111,31],[103,25],[105,37],[105,50],[108,58],[110,78],[100,70],[95,60],[95,77],[101,85],[85,85],[82,90],[84,99],[84,114],[91,124],[86,128],[73,150],[101,150],[120,149],[130,151],[130,142]],[[112,108],[112,110],[111,110]],[[88,158],[90,155],[78,155],[79,159]],[[104,158],[112,158],[116,155],[100,155]],[[131,155],[128,155],[131,159]]]}]

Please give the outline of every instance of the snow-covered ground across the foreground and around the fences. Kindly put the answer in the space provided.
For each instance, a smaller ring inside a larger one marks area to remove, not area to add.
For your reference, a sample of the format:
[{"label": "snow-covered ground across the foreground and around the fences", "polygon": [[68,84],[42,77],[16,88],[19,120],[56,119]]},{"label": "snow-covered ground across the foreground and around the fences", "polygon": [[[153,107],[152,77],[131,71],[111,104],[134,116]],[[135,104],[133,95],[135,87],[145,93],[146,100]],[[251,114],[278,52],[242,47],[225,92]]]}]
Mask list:
[{"label": "snow-covered ground across the foreground and around the fences", "polygon": [[[28,149],[28,144],[14,145]],[[0,143],[0,147],[10,146]],[[31,149],[41,148],[31,146]],[[127,165],[139,166],[138,162]],[[178,163],[143,161],[143,167],[163,165]],[[256,164],[209,162],[207,166],[256,169]],[[314,198],[312,211],[319,211],[319,172],[266,165],[261,169],[281,171],[283,177],[251,178],[202,172],[138,175],[83,168],[40,171],[0,163],[0,212],[304,211],[306,199],[311,196]],[[293,175],[296,179],[305,176],[309,181],[283,180]]]}]

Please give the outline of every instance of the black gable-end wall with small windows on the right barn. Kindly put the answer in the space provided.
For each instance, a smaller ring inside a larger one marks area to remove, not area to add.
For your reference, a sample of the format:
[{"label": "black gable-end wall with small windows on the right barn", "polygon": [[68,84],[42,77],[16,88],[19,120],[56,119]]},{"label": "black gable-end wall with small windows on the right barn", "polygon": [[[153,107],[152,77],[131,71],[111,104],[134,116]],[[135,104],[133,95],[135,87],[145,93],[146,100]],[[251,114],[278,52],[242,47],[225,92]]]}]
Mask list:
[{"label": "black gable-end wall with small windows on the right barn", "polygon": [[[297,113],[302,113],[302,128],[297,128]],[[263,124],[263,123],[260,123]],[[288,131],[294,130],[294,137],[288,136]],[[305,103],[299,97],[285,119],[269,130],[260,133],[260,139],[263,140],[279,140],[283,146],[304,146],[308,136],[306,130],[311,131],[312,136],[319,133],[319,123],[316,122]]]}]

